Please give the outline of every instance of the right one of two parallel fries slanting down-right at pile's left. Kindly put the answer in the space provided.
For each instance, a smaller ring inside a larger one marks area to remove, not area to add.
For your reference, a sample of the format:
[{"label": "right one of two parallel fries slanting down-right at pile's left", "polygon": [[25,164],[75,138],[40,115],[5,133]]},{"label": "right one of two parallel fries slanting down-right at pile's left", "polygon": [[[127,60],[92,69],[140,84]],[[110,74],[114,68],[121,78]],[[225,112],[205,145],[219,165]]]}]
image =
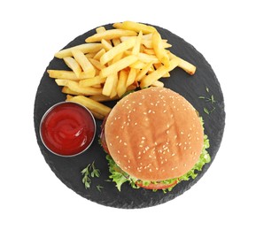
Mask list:
[{"label": "right one of two parallel fries slanting down-right at pile's left", "polygon": [[81,50],[72,50],[72,54],[74,59],[81,65],[81,69],[85,74],[89,77],[95,76],[95,69],[93,65],[89,62],[89,59],[85,57],[85,55],[81,52]]}]

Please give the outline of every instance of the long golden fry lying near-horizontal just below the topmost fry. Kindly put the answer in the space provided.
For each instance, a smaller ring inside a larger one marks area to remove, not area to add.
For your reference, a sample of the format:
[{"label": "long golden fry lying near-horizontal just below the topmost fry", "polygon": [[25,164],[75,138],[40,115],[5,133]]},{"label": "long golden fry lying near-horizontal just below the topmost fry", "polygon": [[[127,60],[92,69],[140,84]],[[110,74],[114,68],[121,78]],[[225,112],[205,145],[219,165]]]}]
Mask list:
[{"label": "long golden fry lying near-horizontal just below the topmost fry", "polygon": [[98,33],[92,36],[89,36],[85,42],[100,42],[102,39],[110,40],[113,38],[119,38],[121,36],[136,36],[137,33],[131,30],[125,29],[109,29],[105,32]]}]

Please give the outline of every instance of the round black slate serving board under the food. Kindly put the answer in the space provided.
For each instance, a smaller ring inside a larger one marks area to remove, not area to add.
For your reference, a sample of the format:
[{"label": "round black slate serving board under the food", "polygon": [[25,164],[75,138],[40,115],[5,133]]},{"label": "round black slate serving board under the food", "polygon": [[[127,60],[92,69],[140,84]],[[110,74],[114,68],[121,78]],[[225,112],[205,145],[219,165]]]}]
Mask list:
[{"label": "round black slate serving board under the food", "polygon": [[[112,28],[111,24],[105,25],[106,28]],[[77,157],[58,157],[49,152],[43,146],[43,142],[39,135],[39,124],[43,117],[43,113],[47,111],[51,105],[64,101],[66,96],[61,93],[61,89],[57,86],[54,80],[50,79],[48,73],[43,73],[43,78],[37,89],[35,96],[35,134],[38,145],[42,151],[43,157],[50,169],[68,188],[71,188],[90,201],[100,203],[106,206],[115,208],[135,209],[145,208],[160,203],[166,203],[174,199],[176,196],[182,195],[186,190],[191,188],[203,175],[213,163],[213,159],[221,145],[221,139],[225,126],[225,111],[224,100],[221,92],[221,86],[213,73],[211,65],[206,59],[188,42],[182,38],[172,34],[164,28],[156,27],[163,39],[167,39],[173,47],[170,49],[177,56],[184,58],[190,63],[197,66],[197,72],[194,76],[190,76],[182,69],[176,68],[171,77],[163,79],[165,87],[175,90],[177,93],[184,96],[193,106],[199,111],[200,116],[205,120],[205,133],[208,135],[211,147],[208,149],[212,161],[210,164],[204,166],[203,171],[198,173],[195,180],[182,181],[171,192],[164,194],[162,191],[152,192],[144,188],[134,189],[130,188],[128,184],[123,184],[121,192],[115,188],[115,185],[108,180],[109,172],[105,159],[105,152],[98,144],[98,135],[100,134],[101,121],[97,120],[97,134],[96,138],[86,153]],[[95,34],[95,29],[78,36],[74,41],[68,43],[65,48],[72,47],[84,43],[85,38]],[[68,69],[63,60],[53,58],[50,61],[47,69]],[[208,96],[206,88],[209,88],[209,94],[214,96],[216,103],[214,103],[215,110],[209,115],[206,114],[204,108],[212,109],[211,103],[206,103],[199,96]],[[114,103],[107,103],[113,106]],[[99,178],[92,180],[91,188],[85,189],[81,182],[81,170],[88,164],[95,161],[95,165],[100,170]],[[102,188],[101,192],[97,190],[97,185]]]}]

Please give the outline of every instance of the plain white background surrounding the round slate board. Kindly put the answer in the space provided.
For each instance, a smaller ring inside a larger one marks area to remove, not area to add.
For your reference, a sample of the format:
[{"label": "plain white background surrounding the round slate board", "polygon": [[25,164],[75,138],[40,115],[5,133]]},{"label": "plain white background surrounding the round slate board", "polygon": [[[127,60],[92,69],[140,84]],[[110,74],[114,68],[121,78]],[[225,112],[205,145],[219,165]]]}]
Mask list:
[{"label": "plain white background surrounding the round slate board", "polygon": [[[2,1],[0,228],[255,229],[252,4]],[[142,210],[105,207],[66,188],[45,163],[33,123],[36,89],[53,54],[91,28],[122,20],[164,27],[190,42],[212,65],[227,112],[221,149],[205,176],[175,200]]]}]

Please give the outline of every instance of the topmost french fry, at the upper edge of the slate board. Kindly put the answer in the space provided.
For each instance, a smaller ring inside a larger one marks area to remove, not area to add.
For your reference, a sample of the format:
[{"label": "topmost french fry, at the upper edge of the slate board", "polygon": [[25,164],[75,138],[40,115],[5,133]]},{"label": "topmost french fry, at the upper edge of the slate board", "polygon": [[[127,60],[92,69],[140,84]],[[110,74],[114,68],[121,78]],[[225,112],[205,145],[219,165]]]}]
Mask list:
[{"label": "topmost french fry, at the upper edge of the slate board", "polygon": [[154,27],[147,26],[142,23],[137,23],[134,21],[124,21],[122,23],[114,23],[112,26],[115,28],[136,31],[137,33],[142,31],[144,34],[151,34],[156,31],[156,29]]}]

